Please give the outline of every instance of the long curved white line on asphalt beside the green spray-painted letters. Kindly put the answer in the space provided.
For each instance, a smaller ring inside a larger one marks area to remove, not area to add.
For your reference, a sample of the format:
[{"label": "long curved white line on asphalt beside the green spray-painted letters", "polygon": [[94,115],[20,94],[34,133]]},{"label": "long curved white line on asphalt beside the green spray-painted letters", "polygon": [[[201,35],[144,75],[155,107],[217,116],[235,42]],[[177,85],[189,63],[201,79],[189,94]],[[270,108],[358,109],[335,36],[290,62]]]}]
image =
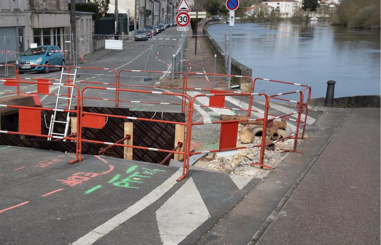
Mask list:
[{"label": "long curved white line on asphalt beside the green spray-painted letters", "polygon": [[144,210],[146,207],[154,203],[157,199],[162,197],[167,191],[169,191],[174,184],[176,184],[176,179],[182,175],[182,169],[179,169],[170,178],[164,181],[160,186],[156,187],[149,194],[144,196],[138,202],[134,203],[132,206],[128,207],[126,210],[115,215],[113,218],[106,221],[106,223],[101,224],[96,227],[80,239],[71,243],[71,245],[91,245],[96,240],[100,239],[104,235],[108,234],[110,231],[114,230],[120,224],[123,224],[128,219],[132,218],[140,211]]}]

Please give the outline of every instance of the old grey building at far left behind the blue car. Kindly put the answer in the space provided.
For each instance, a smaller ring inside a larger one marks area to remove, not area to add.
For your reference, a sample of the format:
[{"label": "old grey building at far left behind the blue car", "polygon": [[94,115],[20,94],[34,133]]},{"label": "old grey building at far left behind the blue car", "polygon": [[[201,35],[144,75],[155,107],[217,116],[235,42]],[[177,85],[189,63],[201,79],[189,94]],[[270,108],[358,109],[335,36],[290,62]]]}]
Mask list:
[{"label": "old grey building at far left behind the blue car", "polygon": [[[67,0],[1,0],[0,49],[23,52],[30,43],[64,48],[70,31]],[[5,38],[4,38],[5,37]],[[7,61],[16,59],[7,55]],[[0,63],[5,58],[0,56]]]}]

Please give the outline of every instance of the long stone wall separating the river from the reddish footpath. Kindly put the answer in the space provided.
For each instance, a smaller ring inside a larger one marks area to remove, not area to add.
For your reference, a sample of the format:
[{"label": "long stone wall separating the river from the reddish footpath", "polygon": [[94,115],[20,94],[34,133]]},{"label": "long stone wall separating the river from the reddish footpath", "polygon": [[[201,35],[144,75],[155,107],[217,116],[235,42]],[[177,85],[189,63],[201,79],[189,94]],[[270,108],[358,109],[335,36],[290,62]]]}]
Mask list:
[{"label": "long stone wall separating the river from the reddish footpath", "polygon": [[[214,40],[213,37],[211,37],[211,35],[209,34],[207,30],[207,27],[210,24],[215,24],[215,23],[220,23],[220,21],[209,20],[205,22],[202,29],[202,34],[206,35],[205,41],[207,42],[212,53],[217,55],[217,64],[219,64],[219,66],[225,67],[225,51],[217,44],[217,42]],[[252,72],[253,71],[249,67],[241,64],[240,62],[232,58],[232,75],[241,75],[241,76],[251,77]],[[248,88],[250,89],[250,80],[246,78],[235,78],[235,81],[237,84],[241,86],[241,90],[247,91]]]}]

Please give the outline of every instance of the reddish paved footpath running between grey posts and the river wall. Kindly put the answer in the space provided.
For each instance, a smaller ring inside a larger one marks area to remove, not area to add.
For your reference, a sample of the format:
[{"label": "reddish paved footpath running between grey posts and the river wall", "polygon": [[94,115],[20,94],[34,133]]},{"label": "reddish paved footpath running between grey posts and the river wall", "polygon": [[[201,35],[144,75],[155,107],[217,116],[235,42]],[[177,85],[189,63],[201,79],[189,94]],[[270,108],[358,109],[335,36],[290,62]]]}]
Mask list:
[{"label": "reddish paved footpath running between grey posts and the river wall", "polygon": [[[197,35],[202,35],[202,29],[204,27],[204,22],[200,22],[197,28]],[[192,64],[192,69],[189,71],[187,69],[188,64],[184,62],[183,72],[187,74],[188,72],[202,72],[214,74],[214,55],[209,50],[208,46],[205,43],[203,36],[197,37],[197,51],[195,54],[195,38],[191,37],[192,30],[190,29],[187,33],[188,41],[187,47],[184,52],[184,59],[187,59]],[[216,66],[216,74],[223,74],[223,71],[220,67]],[[180,78],[175,78],[174,86],[182,87],[183,80]],[[171,75],[167,75],[160,83],[160,86],[171,86]],[[207,75],[190,75],[188,77],[188,87],[192,88],[213,88],[213,76]],[[216,88],[227,88],[227,81],[224,77],[216,76]]]}]

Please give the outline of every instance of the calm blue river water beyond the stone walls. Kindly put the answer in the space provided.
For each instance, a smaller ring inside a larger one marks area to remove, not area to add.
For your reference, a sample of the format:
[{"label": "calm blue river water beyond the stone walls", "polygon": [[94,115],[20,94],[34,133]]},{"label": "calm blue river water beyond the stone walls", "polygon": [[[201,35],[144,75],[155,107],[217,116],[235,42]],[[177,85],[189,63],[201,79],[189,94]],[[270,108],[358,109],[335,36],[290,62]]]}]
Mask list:
[{"label": "calm blue river water beyond the stone walls", "polygon": [[[312,97],[325,97],[327,81],[335,80],[335,97],[381,94],[381,30],[330,26],[327,21],[236,23],[232,57],[253,69],[253,78],[301,83]],[[225,50],[228,24],[208,32]],[[257,86],[258,85],[258,86]],[[298,88],[256,83],[267,94]]]}]

